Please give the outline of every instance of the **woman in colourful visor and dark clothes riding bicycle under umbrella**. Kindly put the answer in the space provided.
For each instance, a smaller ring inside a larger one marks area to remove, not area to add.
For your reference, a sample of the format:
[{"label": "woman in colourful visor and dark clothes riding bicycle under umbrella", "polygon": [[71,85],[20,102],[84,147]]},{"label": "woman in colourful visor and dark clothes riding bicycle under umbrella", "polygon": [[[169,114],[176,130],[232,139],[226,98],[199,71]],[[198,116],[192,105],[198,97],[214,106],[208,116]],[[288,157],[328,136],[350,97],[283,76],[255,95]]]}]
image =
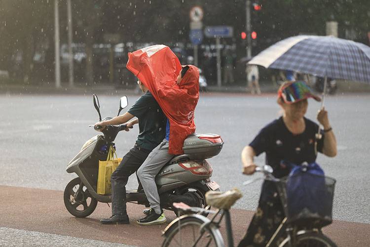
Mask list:
[{"label": "woman in colourful visor and dark clothes riding bicycle under umbrella", "polygon": [[[283,160],[293,164],[313,163],[317,156],[315,149],[329,157],[336,155],[336,140],[328,112],[321,109],[317,114],[317,120],[324,126],[321,139],[316,138],[318,124],[304,117],[308,98],[321,100],[305,82],[285,82],[280,86],[277,103],[283,110],[283,116],[263,127],[243,149],[241,156],[244,174],[251,175],[256,171],[253,159],[263,152],[266,153],[266,164],[272,166],[273,175],[277,178],[287,176],[290,172],[289,167],[281,164]],[[275,184],[265,180],[257,212],[239,247],[266,246],[284,217]]]}]

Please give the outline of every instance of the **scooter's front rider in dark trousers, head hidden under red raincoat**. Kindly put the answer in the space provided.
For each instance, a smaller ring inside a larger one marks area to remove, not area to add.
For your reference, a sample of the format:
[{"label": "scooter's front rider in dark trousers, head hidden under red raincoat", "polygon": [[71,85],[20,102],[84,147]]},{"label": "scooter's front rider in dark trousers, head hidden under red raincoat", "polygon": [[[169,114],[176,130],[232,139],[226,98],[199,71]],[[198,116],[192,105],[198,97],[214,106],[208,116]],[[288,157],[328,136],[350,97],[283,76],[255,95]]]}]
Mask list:
[{"label": "scooter's front rider in dark trousers, head hidden under red raincoat", "polygon": [[[126,131],[134,124],[139,124],[139,135],[134,147],[123,157],[121,163],[111,175],[112,215],[101,219],[101,224],[129,224],[126,211],[126,184],[131,174],[147,159],[149,153],[163,140],[166,117],[148,88],[138,81],[140,89],[145,92],[135,104],[123,115],[95,125],[127,124]],[[137,117],[137,119],[133,119]],[[130,121],[130,122],[128,122]]]}]

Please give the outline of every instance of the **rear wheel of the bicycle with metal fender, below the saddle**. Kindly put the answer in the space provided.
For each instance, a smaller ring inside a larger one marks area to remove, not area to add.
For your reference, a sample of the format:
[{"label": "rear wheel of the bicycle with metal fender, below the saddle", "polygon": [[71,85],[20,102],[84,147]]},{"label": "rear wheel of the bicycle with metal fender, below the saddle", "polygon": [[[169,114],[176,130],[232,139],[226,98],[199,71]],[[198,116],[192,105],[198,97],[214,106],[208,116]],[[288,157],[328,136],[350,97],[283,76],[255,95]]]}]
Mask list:
[{"label": "rear wheel of the bicycle with metal fender, below the saddle", "polygon": [[210,221],[206,217],[186,215],[175,221],[166,231],[162,247],[224,247],[217,228],[211,225],[202,228]]}]

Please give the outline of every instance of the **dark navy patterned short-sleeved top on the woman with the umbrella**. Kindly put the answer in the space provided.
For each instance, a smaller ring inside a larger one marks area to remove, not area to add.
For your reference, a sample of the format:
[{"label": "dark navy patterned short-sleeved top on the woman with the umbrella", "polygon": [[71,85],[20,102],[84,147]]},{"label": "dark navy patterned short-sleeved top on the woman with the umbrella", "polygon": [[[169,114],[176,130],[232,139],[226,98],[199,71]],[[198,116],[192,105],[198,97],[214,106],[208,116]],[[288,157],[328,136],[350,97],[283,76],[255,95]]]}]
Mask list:
[{"label": "dark navy patterned short-sleeved top on the woman with the umbrella", "polygon": [[[300,165],[303,162],[313,163],[316,160],[315,135],[319,125],[304,118],[306,128],[303,133],[294,135],[280,117],[267,124],[259,131],[256,138],[249,144],[256,155],[265,152],[266,164],[274,169],[274,176],[283,177],[289,174],[290,169],[280,165],[281,161]],[[324,135],[317,142],[317,151],[322,153]]]}]

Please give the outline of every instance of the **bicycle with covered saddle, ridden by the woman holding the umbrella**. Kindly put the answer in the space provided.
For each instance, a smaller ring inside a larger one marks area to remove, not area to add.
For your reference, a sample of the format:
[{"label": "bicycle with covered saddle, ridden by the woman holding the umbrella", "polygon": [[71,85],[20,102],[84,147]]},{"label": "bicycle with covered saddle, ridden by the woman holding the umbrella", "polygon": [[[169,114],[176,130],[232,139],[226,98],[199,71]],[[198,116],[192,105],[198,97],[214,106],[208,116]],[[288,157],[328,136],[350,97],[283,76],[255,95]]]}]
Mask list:
[{"label": "bicycle with covered saddle, ridden by the woman holding the umbrella", "polygon": [[[274,181],[278,184],[278,193],[284,207],[285,215],[289,215],[285,189],[286,180],[275,178],[272,175],[272,167],[269,165],[257,167],[256,171],[262,172],[265,180]],[[245,184],[249,184],[256,180],[258,179],[247,181]],[[335,184],[335,180],[333,181],[332,186]],[[162,247],[224,247],[225,244],[220,232],[220,223],[222,222],[223,217],[225,217],[227,245],[228,247],[233,247],[234,243],[229,209],[239,198],[241,198],[241,196],[242,195],[238,189],[233,189],[224,193],[208,193],[206,195],[207,203],[209,206],[218,208],[217,211],[200,207],[190,207],[182,203],[174,204],[174,206],[178,208],[181,213],[185,213],[185,215],[176,218],[165,228],[163,231],[165,240],[163,241]],[[208,219],[196,213],[210,213],[214,214],[214,216],[212,219]],[[220,215],[220,218],[216,220],[218,215]],[[284,234],[284,230],[287,237],[280,243],[279,247],[336,247],[335,243],[322,233],[321,225],[319,224],[320,221],[318,221],[318,219],[314,219],[312,221],[307,221],[306,219],[306,228],[303,229],[300,224],[297,224],[297,222],[299,221],[291,221],[289,217],[286,216],[271,239],[268,241],[266,247],[276,246],[276,242],[279,237]],[[328,223],[326,223],[326,225],[327,224]]]}]

